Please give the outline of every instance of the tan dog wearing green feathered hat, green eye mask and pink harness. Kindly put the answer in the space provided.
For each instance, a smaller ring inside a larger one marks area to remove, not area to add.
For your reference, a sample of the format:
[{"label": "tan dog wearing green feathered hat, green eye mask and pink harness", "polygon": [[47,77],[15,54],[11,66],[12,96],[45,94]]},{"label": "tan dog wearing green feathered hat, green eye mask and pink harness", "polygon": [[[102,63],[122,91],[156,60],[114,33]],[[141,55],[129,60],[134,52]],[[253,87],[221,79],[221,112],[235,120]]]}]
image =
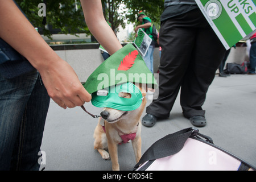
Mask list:
[{"label": "tan dog wearing green feathered hat, green eye mask and pink harness", "polygon": [[141,54],[133,44],[127,44],[100,64],[83,86],[92,94],[92,105],[104,107],[94,130],[94,148],[103,159],[111,158],[113,170],[119,170],[118,143],[132,140],[138,162],[141,158],[140,117],[146,105],[144,96],[147,87],[158,86]]}]

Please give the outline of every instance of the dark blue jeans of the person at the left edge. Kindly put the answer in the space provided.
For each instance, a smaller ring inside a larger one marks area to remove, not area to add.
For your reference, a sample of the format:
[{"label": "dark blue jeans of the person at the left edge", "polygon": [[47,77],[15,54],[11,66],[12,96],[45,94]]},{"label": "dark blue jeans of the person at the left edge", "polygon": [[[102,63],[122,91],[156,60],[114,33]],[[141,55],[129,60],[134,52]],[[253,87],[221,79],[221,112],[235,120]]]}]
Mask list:
[{"label": "dark blue jeans of the person at the left edge", "polygon": [[0,74],[0,170],[39,170],[49,107],[38,72],[13,79]]}]

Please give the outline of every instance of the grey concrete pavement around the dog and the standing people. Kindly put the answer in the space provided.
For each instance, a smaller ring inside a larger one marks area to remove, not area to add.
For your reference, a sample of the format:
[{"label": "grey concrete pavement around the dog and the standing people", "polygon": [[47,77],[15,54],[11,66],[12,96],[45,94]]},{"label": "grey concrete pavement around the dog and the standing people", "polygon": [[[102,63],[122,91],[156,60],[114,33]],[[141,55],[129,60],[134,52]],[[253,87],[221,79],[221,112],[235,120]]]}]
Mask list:
[{"label": "grey concrete pavement around the dog and the standing people", "polygon": [[[151,101],[147,102],[149,105]],[[86,110],[100,114],[102,108],[86,103]],[[256,75],[231,75],[216,77],[210,85],[206,110],[207,126],[198,128],[208,135],[214,144],[256,166]],[[145,115],[145,111],[142,117]],[[104,160],[93,149],[93,131],[98,119],[86,114],[80,107],[62,109],[51,100],[41,150],[45,152],[47,171],[51,170],[111,170],[110,160]],[[163,119],[154,127],[142,126],[142,154],[156,140],[192,127],[183,117],[179,96],[170,118]],[[118,147],[121,170],[135,166],[131,143]]]}]

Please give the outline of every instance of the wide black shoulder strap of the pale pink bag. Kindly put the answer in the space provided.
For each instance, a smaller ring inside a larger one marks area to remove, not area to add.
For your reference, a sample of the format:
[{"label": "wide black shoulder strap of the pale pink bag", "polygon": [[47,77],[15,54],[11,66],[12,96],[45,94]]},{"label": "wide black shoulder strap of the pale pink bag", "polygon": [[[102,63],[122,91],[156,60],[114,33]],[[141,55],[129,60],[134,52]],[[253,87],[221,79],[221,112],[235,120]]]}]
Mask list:
[{"label": "wide black shoulder strap of the pale pink bag", "polygon": [[139,162],[135,165],[134,169],[137,169],[141,164],[147,162],[148,160],[155,160],[176,154],[183,148],[184,143],[189,137],[191,137],[194,131],[198,130],[194,130],[192,127],[189,127],[159,139],[152,144],[152,146],[148,148],[146,152],[144,152],[141,160],[139,160]]}]

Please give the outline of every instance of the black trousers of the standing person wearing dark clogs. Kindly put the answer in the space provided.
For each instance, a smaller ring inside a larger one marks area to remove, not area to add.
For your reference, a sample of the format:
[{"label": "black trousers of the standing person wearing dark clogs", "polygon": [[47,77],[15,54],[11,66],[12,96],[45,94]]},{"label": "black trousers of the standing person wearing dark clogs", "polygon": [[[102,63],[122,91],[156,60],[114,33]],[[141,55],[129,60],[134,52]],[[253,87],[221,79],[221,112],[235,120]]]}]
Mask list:
[{"label": "black trousers of the standing person wearing dark clogs", "polygon": [[202,105],[225,48],[199,9],[162,22],[159,97],[146,113],[167,118],[180,93],[184,117],[205,115]]}]

